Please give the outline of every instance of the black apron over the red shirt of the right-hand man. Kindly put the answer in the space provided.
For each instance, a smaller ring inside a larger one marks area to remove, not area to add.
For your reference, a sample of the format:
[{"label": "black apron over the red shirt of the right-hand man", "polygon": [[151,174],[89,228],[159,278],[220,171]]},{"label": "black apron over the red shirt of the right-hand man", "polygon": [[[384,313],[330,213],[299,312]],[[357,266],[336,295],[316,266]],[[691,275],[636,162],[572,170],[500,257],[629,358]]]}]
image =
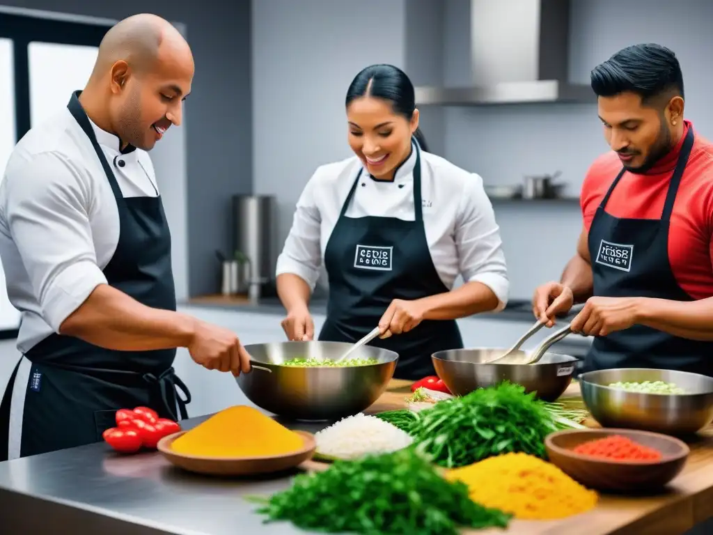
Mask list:
[{"label": "black apron over the red shirt of the right-hand man", "polygon": [[[693,146],[689,128],[670,180],[660,220],[615,218],[605,211],[625,170],[622,169],[602,199],[589,231],[589,253],[594,295],[654,297],[692,301],[678,285],[668,256],[670,219],[681,177]],[[661,368],[712,375],[712,342],[673,336],[644,325],[595,337],[585,370]]]}]

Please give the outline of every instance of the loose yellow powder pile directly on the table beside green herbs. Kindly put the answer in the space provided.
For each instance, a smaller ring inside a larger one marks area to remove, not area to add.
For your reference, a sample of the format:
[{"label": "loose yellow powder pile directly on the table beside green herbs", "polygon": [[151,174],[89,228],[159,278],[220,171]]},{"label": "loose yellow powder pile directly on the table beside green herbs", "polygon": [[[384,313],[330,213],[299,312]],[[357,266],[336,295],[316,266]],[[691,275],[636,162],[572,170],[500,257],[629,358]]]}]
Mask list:
[{"label": "loose yellow powder pile directly on the table beside green herbs", "polygon": [[449,470],[445,477],[463,481],[471,500],[516,519],[561,519],[597,504],[595,491],[585,489],[554,464],[524,453],[490,457]]}]

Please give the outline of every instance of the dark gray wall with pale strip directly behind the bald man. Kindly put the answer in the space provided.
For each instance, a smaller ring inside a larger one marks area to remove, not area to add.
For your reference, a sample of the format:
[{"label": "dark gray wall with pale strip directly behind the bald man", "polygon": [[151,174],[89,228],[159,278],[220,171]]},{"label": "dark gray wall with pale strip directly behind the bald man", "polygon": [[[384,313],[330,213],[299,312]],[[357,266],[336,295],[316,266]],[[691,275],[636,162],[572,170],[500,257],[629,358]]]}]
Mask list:
[{"label": "dark gray wall with pale strip directly behind the bald man", "polygon": [[175,140],[177,150],[157,145],[152,158],[173,234],[177,295],[217,293],[215,250],[232,247],[230,197],[252,192],[250,0],[0,4],[115,20],[150,12],[185,24],[196,63],[193,92],[185,103],[185,141]]}]

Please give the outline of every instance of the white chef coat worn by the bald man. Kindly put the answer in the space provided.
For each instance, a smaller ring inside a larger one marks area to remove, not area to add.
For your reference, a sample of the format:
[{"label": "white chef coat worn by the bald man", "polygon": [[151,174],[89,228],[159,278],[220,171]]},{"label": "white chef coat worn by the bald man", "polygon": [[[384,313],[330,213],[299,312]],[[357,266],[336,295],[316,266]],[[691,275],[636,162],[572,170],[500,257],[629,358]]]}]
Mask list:
[{"label": "white chef coat worn by the bald man", "polygon": [[[122,154],[118,137],[91,125],[123,196],[158,195],[148,153]],[[111,185],[65,108],[19,141],[0,185],[0,260],[9,300],[21,312],[21,352],[58,332],[94,288],[106,284],[102,270],[118,239]]]}]

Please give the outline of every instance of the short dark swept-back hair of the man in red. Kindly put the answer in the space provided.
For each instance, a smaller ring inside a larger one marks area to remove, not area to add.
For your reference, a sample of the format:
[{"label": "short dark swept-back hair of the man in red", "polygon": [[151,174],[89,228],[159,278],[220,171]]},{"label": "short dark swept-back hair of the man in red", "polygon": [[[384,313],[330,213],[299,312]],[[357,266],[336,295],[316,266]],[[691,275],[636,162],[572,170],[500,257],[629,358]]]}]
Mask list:
[{"label": "short dark swept-back hair of the man in red", "polygon": [[592,89],[597,96],[630,91],[642,103],[664,93],[683,96],[683,74],[676,54],[665,46],[637,44],[618,51],[592,69]]}]

